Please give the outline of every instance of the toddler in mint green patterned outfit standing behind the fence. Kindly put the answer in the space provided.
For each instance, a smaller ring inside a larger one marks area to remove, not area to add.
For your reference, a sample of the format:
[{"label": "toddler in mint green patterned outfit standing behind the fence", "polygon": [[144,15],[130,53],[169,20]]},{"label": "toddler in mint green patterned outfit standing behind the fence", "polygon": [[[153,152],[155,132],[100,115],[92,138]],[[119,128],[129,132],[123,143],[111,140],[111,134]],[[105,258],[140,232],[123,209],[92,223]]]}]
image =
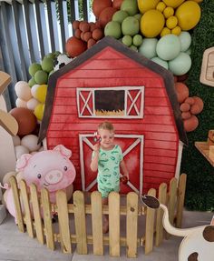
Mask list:
[{"label": "toddler in mint green patterned outfit standing behind the fence", "polygon": [[[129,173],[122,156],[122,148],[114,144],[114,128],[112,123],[103,122],[98,126],[100,143],[93,146],[92,171],[98,170],[98,191],[102,194],[102,205],[108,203],[108,195],[112,191],[120,191],[120,167],[123,176],[129,180]],[[109,228],[108,217],[104,216],[103,233]]]}]

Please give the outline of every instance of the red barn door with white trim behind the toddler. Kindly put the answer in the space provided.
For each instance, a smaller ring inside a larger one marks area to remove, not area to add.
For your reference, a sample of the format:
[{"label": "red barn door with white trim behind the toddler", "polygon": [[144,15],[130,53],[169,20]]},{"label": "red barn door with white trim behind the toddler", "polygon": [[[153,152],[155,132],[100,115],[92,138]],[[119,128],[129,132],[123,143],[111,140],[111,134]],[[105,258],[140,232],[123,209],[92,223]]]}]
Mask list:
[{"label": "red barn door with white trim behind the toddler", "polygon": [[[92,134],[80,134],[80,166],[83,191],[97,189],[96,176],[90,169],[92,159]],[[123,158],[129,171],[130,181],[121,185],[121,193],[135,191],[142,193],[143,186],[143,136],[115,135],[115,144],[122,147]],[[122,174],[121,174],[122,176]]]}]

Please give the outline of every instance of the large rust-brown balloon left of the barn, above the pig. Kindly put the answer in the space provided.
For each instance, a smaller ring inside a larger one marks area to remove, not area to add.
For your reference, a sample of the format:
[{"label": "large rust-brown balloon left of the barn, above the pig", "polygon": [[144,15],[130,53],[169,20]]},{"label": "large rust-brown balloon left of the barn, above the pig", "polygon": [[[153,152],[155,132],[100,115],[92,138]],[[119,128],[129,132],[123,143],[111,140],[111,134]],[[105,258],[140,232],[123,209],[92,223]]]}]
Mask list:
[{"label": "large rust-brown balloon left of the barn, above the pig", "polygon": [[17,135],[24,136],[31,134],[36,127],[35,115],[26,108],[14,108],[10,111],[18,123]]}]

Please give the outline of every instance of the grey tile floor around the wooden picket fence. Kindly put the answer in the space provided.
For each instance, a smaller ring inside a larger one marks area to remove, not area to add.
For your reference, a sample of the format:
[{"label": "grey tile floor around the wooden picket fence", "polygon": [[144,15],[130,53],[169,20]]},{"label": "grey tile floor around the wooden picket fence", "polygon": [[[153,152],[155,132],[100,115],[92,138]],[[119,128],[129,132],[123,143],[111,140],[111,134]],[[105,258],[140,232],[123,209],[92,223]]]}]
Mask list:
[{"label": "grey tile floor around the wooden picket fence", "polygon": [[[212,213],[184,211],[183,226],[208,225],[212,218]],[[145,256],[143,247],[138,248],[138,257],[135,260],[143,261],[177,261],[181,237],[171,236],[169,240],[164,240],[160,247],[154,247],[153,252]],[[73,254],[64,255],[60,246],[52,251],[46,246],[40,245],[36,239],[30,238],[26,233],[18,231],[14,223],[14,218],[7,215],[0,225],[0,261],[87,261],[87,260],[111,260],[119,258],[108,255],[108,246],[105,246],[104,256],[92,256],[92,246],[88,247],[89,255],[78,255],[73,248]],[[122,260],[128,261],[125,255],[125,247],[122,247]]]}]

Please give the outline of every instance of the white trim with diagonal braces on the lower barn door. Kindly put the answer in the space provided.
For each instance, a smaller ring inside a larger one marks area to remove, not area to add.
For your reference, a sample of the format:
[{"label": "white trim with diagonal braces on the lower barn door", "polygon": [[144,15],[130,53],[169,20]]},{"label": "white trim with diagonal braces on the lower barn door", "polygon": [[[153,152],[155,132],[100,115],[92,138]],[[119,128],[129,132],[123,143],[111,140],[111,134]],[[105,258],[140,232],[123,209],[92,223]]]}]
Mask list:
[{"label": "white trim with diagonal braces on the lower barn door", "polygon": [[[87,187],[85,186],[85,171],[84,171],[84,159],[83,159],[83,142],[85,144],[87,144],[91,149],[93,147],[92,143],[90,142],[90,140],[88,139],[88,137],[92,137],[93,134],[79,134],[79,144],[80,144],[80,165],[81,165],[81,179],[82,179],[82,189],[83,191],[90,191],[92,189],[92,187],[97,183],[96,178],[90,183],[90,185],[88,185]],[[133,186],[133,184],[131,184],[131,182],[129,181],[127,183],[127,186],[130,186],[131,189],[133,191],[135,191],[136,193],[139,193],[140,195],[142,194],[142,185],[143,185],[143,142],[144,142],[144,136],[141,135],[115,135],[115,137],[118,138],[134,138],[135,141],[131,144],[131,146],[129,146],[122,154],[123,156],[126,156],[127,154],[129,154],[131,152],[131,150],[139,145],[141,143],[141,149],[140,149],[140,189],[138,189],[137,187]],[[122,174],[120,175],[122,176]]]}]

